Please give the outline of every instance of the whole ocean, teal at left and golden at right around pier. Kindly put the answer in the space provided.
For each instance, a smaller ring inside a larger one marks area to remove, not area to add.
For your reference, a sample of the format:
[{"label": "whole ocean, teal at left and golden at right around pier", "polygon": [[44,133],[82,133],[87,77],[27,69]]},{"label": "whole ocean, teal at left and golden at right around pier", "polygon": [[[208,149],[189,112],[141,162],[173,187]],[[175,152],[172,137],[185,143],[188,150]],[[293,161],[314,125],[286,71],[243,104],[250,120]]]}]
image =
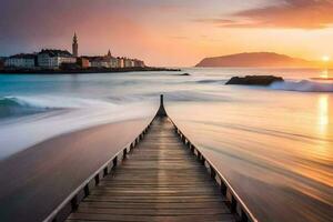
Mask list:
[{"label": "whole ocean, teal at left and golden at right around pier", "polygon": [[[224,84],[245,74],[286,81]],[[332,221],[333,82],[313,79],[329,74],[235,68],[0,74],[0,162],[56,135],[153,117],[163,93],[170,117],[260,221]]]}]

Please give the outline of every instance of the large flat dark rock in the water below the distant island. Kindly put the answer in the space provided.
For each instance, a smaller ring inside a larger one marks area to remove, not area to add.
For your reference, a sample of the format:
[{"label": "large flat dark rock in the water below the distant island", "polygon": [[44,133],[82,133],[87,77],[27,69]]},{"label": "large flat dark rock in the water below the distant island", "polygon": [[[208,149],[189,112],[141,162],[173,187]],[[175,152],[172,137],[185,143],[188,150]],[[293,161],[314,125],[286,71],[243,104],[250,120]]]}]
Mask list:
[{"label": "large flat dark rock in the water below the distant island", "polygon": [[270,85],[273,82],[283,82],[283,78],[274,75],[246,75],[233,77],[225,84],[244,84],[244,85]]}]

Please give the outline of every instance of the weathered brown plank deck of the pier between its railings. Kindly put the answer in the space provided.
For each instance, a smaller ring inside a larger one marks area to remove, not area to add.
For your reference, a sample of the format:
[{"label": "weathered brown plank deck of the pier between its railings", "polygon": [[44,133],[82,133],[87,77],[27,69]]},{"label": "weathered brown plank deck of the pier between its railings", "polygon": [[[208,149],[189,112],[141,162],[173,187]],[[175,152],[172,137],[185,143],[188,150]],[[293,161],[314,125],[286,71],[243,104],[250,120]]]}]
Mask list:
[{"label": "weathered brown plank deck of the pier between its railings", "polygon": [[170,120],[157,118],[139,145],[68,221],[229,222],[235,218]]}]

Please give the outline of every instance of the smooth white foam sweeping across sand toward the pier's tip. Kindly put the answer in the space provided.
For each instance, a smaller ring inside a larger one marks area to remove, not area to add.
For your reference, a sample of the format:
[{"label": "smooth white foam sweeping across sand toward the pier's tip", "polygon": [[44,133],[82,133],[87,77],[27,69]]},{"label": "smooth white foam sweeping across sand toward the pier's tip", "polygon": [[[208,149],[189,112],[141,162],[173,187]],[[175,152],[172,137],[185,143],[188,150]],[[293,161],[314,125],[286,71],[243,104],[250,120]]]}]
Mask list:
[{"label": "smooth white foam sweeping across sand toward the pier's tip", "polygon": [[155,102],[121,105],[102,100],[57,97],[19,97],[19,100],[40,107],[77,109],[56,110],[0,122],[0,159],[59,134],[104,123],[152,117],[157,110]]}]

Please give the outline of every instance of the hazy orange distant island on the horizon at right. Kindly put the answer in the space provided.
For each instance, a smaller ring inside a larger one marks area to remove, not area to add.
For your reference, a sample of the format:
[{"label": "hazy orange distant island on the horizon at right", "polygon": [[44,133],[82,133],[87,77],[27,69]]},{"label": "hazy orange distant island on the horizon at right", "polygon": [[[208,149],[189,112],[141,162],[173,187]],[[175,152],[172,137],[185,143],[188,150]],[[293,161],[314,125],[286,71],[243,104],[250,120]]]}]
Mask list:
[{"label": "hazy orange distant island on the horizon at right", "polygon": [[205,58],[195,67],[317,68],[320,67],[320,62],[274,52],[246,52]]}]

